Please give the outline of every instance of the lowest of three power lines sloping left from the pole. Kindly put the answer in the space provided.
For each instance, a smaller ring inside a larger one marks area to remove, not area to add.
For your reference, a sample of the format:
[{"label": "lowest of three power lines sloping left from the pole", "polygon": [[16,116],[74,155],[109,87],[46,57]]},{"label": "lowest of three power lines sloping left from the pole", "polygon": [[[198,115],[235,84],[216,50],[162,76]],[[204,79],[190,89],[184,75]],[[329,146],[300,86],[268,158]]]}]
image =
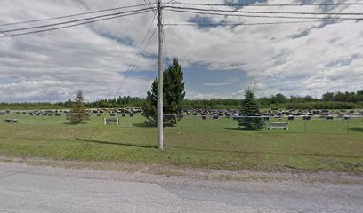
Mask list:
[{"label": "lowest of three power lines sloping left from the pole", "polygon": [[128,14],[121,14],[121,15],[117,15],[117,16],[113,16],[113,17],[109,17],[109,18],[103,18],[103,19],[97,19],[97,20],[88,20],[88,21],[84,21],[84,22],[80,22],[80,23],[75,23],[75,24],[68,25],[68,26],[57,27],[57,28],[46,28],[46,29],[40,29],[40,30],[30,31],[30,32],[25,32],[25,33],[5,35],[5,36],[0,36],[0,39],[5,38],[5,37],[24,36],[24,35],[29,35],[29,34],[43,33],[43,32],[57,30],[57,29],[62,29],[62,28],[72,28],[72,27],[76,27],[76,26],[80,26],[80,25],[94,23],[94,22],[101,21],[101,20],[113,20],[113,19],[117,19],[117,18],[120,18],[120,17],[131,16],[131,15],[141,14],[141,13],[145,13],[145,12],[149,12],[149,11],[142,11],[142,12],[133,12],[133,13],[128,13]]}]

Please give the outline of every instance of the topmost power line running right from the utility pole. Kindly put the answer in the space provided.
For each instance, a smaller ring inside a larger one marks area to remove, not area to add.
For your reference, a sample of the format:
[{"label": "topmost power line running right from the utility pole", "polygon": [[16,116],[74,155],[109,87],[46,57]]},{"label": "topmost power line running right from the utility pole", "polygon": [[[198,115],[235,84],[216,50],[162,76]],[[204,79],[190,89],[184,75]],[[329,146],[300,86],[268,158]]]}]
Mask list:
[{"label": "topmost power line running right from the utility pole", "polygon": [[196,5],[196,6],[235,6],[235,7],[282,7],[282,6],[349,6],[363,5],[363,3],[320,3],[320,4],[199,4],[199,3],[183,3],[174,1],[171,4]]}]

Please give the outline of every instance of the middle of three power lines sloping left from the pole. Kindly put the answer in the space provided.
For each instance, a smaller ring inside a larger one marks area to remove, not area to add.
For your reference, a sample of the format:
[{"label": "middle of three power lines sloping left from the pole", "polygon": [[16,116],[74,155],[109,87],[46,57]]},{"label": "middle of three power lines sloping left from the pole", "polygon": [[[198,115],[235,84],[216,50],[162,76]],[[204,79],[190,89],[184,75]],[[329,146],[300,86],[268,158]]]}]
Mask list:
[{"label": "middle of three power lines sloping left from the pole", "polygon": [[148,12],[149,10],[150,10],[149,8],[143,8],[143,9],[133,10],[133,11],[127,11],[127,12],[116,12],[116,13],[110,13],[110,14],[93,16],[93,17],[84,18],[84,19],[69,20],[69,21],[63,21],[63,22],[58,22],[58,23],[52,23],[52,24],[46,24],[46,25],[33,26],[33,27],[28,27],[28,28],[13,28],[13,29],[7,29],[7,30],[0,31],[0,33],[4,34],[4,33],[10,33],[10,32],[16,32],[16,31],[24,31],[24,30],[35,29],[35,28],[49,28],[49,27],[54,27],[54,26],[59,26],[59,25],[65,25],[65,24],[70,24],[70,23],[79,22],[79,21],[99,19],[99,18],[108,17],[108,16],[117,16],[117,15],[121,15],[121,14],[133,13],[133,12]]}]

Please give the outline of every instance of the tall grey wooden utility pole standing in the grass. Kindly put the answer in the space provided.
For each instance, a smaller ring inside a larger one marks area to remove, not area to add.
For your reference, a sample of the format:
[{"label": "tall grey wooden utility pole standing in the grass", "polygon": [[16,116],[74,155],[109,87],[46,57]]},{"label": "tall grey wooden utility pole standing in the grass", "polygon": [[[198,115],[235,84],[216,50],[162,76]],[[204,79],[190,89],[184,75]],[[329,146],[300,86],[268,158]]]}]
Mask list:
[{"label": "tall grey wooden utility pole standing in the grass", "polygon": [[163,69],[164,69],[164,56],[163,56],[163,1],[158,0],[157,3],[158,13],[158,100],[157,100],[157,129],[158,129],[158,149],[164,149],[164,125],[163,125]]}]

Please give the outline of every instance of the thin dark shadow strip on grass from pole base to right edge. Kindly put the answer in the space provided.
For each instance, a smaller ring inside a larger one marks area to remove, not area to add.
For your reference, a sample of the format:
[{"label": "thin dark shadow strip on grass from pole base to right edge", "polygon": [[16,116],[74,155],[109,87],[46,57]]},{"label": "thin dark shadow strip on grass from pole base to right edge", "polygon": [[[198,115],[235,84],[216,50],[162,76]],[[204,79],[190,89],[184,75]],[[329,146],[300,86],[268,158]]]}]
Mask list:
[{"label": "thin dark shadow strip on grass from pole base to right edge", "polygon": [[303,154],[303,153],[274,153],[274,152],[263,152],[263,151],[242,151],[242,150],[218,150],[218,149],[204,149],[204,148],[193,148],[193,147],[183,147],[183,146],[173,146],[167,145],[166,147],[179,148],[185,150],[193,151],[203,151],[203,152],[215,152],[215,153],[237,153],[237,154],[251,154],[251,155],[286,155],[286,156],[310,156],[310,157],[339,157],[339,158],[361,158],[362,156],[349,156],[340,154]]}]

